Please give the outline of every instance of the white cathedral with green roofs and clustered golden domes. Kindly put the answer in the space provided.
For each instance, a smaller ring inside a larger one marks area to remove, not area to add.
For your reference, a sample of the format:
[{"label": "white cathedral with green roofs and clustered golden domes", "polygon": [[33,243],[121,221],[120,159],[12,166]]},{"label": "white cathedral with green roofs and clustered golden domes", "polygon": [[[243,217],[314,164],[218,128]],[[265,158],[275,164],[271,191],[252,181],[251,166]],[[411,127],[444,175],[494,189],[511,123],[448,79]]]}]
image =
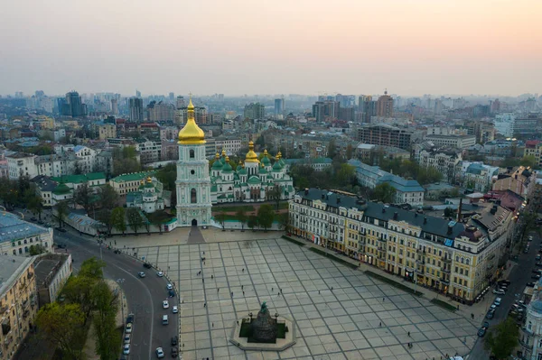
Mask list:
[{"label": "white cathedral with green roofs and clustered golden domes", "polygon": [[210,201],[213,204],[224,202],[258,202],[274,200],[272,191],[278,190],[281,199],[294,198],[294,181],[286,173],[285,161],[280,152],[275,163],[271,163],[267,151],[261,160],[254,152],[254,143],[248,143],[245,162],[237,169],[229,164],[229,157],[222,151],[217,153],[210,169]]}]

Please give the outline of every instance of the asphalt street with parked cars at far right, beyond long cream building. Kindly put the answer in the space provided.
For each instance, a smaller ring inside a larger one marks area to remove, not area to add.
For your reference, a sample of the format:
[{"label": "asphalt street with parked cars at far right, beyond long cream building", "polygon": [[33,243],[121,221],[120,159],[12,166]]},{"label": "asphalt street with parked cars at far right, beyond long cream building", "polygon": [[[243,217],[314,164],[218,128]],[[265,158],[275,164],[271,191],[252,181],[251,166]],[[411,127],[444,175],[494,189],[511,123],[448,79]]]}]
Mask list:
[{"label": "asphalt street with parked cars at far right, beyond long cream building", "polygon": [[[497,311],[495,311],[495,317],[491,318],[491,320],[484,318],[484,321],[490,322],[490,328],[507,318],[510,307],[517,299],[516,294],[519,294],[519,298],[521,297],[521,294],[525,289],[525,284],[527,282],[536,282],[536,280],[531,279],[530,277],[533,274],[531,271],[535,267],[535,263],[537,263],[535,257],[537,256],[538,249],[540,248],[540,237],[534,233],[530,235],[533,235],[533,241],[531,242],[528,254],[523,254],[523,249],[519,254],[518,264],[514,266],[508,278],[508,280],[511,282],[509,290],[506,292],[506,295],[500,296],[502,302]],[[491,296],[486,297],[486,300],[484,301],[487,301],[489,307],[491,305],[491,301],[495,298],[496,296],[491,294]],[[487,360],[489,358],[490,355],[483,348],[482,338],[478,337],[478,341],[476,341],[472,347],[469,360]]]}]

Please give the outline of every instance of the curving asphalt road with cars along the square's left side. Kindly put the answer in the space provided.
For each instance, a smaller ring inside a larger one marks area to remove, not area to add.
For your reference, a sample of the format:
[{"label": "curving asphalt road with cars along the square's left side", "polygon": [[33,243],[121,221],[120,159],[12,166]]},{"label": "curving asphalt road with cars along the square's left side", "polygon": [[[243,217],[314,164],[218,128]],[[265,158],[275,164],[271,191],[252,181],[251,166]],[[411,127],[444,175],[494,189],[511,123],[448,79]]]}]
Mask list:
[{"label": "curving asphalt road with cars along the square's left side", "polygon": [[[54,230],[54,242],[64,243],[68,247],[74,267],[79,269],[80,263],[92,256],[100,257],[100,249],[96,240],[87,235],[76,234],[73,230],[61,233]],[[145,269],[141,262],[124,255],[114,254],[112,250],[102,249],[102,258],[107,266],[104,276],[118,283],[125,293],[128,310],[134,313],[134,329],[130,346],[130,360],[148,360],[155,358],[156,347],[163,347],[165,355],[170,357],[171,338],[178,335],[177,314],[172,313],[177,297],[169,299],[170,309],[163,309],[162,301],[168,299],[165,278],[156,276],[156,270]],[[137,272],[145,272],[146,277],[140,279]],[[162,325],[162,316],[169,315],[169,325]]]}]

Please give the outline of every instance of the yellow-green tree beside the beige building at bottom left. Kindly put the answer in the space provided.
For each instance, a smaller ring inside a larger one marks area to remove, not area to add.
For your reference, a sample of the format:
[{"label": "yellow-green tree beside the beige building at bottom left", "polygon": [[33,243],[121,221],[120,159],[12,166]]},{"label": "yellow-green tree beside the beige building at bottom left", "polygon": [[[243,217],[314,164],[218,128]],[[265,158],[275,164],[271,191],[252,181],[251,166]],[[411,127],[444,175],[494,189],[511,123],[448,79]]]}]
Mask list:
[{"label": "yellow-green tree beside the beige building at bottom left", "polygon": [[79,304],[45,305],[36,317],[36,326],[52,344],[59,346],[65,357],[81,359],[86,340],[85,314]]}]

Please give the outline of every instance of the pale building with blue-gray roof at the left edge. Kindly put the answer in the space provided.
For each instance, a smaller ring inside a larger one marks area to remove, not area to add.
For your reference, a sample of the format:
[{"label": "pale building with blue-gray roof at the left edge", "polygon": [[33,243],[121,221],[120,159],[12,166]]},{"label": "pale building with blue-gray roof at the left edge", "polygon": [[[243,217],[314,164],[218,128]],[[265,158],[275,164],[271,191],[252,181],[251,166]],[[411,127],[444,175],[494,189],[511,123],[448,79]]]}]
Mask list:
[{"label": "pale building with blue-gray roof at the left edge", "polygon": [[28,256],[32,245],[52,252],[52,228],[23,221],[12,213],[0,213],[0,254]]}]

